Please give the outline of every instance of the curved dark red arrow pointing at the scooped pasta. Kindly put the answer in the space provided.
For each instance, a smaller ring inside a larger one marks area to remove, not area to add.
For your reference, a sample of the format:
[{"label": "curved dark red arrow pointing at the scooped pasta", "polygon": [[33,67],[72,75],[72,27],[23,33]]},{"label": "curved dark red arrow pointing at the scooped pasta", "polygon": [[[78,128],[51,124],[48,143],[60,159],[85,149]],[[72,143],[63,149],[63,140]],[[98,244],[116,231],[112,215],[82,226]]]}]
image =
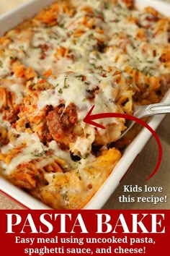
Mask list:
[{"label": "curved dark red arrow pointing at the scooped pasta", "polygon": [[[136,117],[136,116],[130,116],[128,114],[120,114],[120,113],[102,113],[102,114],[93,114],[92,115],[91,112],[93,111],[93,109],[94,109],[94,106],[91,107],[91,109],[89,110],[89,112],[86,114],[86,116],[84,118],[84,122],[86,124],[91,124],[91,125],[94,125],[95,127],[106,129],[102,124],[97,124],[93,120],[117,117],[117,118],[130,119],[130,120],[136,121],[138,124],[143,125],[143,127],[146,127],[152,133],[152,135],[155,137],[156,142],[158,144],[158,161],[156,163],[156,168],[154,169],[153,173],[148,177],[148,179],[151,179],[151,177],[153,177],[153,175],[156,174],[156,171],[158,171],[158,168],[161,164],[161,159],[162,159],[161,141],[159,140],[156,132],[148,124],[146,124],[145,121],[138,119],[138,117]],[[148,180],[148,179],[146,179],[146,180]]]}]

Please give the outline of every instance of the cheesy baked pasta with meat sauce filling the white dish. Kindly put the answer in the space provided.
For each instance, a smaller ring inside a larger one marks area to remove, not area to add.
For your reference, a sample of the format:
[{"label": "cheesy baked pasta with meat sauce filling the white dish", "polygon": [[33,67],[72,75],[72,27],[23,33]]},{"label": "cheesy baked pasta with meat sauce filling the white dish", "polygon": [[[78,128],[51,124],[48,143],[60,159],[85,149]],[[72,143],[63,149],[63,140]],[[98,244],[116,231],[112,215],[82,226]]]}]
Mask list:
[{"label": "cheesy baked pasta with meat sauce filling the white dish", "polygon": [[0,172],[54,209],[81,209],[120,160],[125,119],[170,84],[170,20],[133,0],[63,0],[0,38]]}]

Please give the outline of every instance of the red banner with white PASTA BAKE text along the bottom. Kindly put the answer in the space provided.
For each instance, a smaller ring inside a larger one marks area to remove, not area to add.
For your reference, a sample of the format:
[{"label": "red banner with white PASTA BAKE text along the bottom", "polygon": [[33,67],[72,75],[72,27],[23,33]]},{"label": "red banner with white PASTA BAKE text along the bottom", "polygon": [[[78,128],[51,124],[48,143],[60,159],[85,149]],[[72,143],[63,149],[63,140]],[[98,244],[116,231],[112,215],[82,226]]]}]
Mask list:
[{"label": "red banner with white PASTA BAKE text along the bottom", "polygon": [[1,255],[169,255],[170,210],[1,210]]}]

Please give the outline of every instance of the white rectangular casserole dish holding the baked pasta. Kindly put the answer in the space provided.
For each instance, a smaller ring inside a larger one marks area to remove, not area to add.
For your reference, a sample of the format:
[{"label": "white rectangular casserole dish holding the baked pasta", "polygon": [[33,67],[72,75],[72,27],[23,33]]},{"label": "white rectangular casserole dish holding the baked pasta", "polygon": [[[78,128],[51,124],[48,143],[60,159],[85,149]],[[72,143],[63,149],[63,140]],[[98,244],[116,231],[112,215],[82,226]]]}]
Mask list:
[{"label": "white rectangular casserole dish holding the baked pasta", "polygon": [[[1,15],[0,17],[0,36],[3,35],[7,30],[11,29],[19,22],[32,17],[43,7],[49,5],[54,0],[32,0],[27,4],[23,4],[21,7],[9,12],[7,14]],[[158,1],[158,0],[136,0],[135,4],[138,8],[143,8],[146,6],[151,6],[157,9],[159,12],[162,12],[165,15],[170,13],[170,5]],[[164,102],[170,101],[170,92],[166,93]],[[161,120],[164,119],[164,115],[154,116],[149,125],[155,130],[158,127],[158,124],[161,123]],[[112,171],[112,174],[109,175],[109,178],[102,185],[99,191],[92,197],[89,203],[84,207],[84,209],[99,209],[102,208],[105,202],[109,199],[112,192],[115,191],[117,186],[120,183],[120,180],[125,175],[128,168],[132,165],[136,156],[140,153],[143,147],[148,142],[151,137],[151,132],[148,132],[147,129],[143,129],[140,134],[135,137],[135,140],[128,146],[125,150],[124,155],[120,159],[117,166]],[[5,179],[0,178],[0,190],[8,194],[10,197],[13,197],[14,200],[17,200],[22,205],[25,205],[30,209],[50,209],[47,205],[42,204],[42,202],[35,200],[32,196],[28,195],[26,192],[23,192],[21,189],[14,187],[14,185],[7,182]]]}]

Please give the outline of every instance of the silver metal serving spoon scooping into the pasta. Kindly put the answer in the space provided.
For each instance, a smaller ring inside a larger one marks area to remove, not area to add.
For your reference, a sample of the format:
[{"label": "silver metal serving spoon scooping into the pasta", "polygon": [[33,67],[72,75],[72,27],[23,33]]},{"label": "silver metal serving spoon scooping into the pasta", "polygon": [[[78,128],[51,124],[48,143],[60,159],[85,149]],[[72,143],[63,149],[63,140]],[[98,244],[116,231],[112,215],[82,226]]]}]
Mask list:
[{"label": "silver metal serving spoon scooping into the pasta", "polygon": [[[167,114],[170,113],[170,102],[168,103],[156,103],[156,104],[150,104],[150,105],[144,105],[144,106],[133,106],[133,116],[138,117],[139,119],[145,117],[145,116],[154,116],[156,114]],[[119,139],[123,137],[135,124],[135,121],[133,120],[127,120],[126,121],[126,127],[125,131],[122,132]]]}]

